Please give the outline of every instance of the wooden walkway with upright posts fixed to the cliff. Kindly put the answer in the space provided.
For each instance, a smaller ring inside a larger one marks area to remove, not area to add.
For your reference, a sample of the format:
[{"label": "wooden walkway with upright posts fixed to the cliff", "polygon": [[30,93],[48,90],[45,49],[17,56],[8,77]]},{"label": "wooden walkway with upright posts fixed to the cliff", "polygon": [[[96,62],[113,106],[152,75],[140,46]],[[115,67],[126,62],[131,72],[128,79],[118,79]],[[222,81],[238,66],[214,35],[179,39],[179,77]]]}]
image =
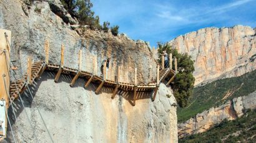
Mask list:
[{"label": "wooden walkway with upright posts fixed to the cliff", "polygon": [[[87,86],[90,85],[90,83],[97,83],[99,86],[96,88],[95,93],[98,94],[99,91],[101,91],[102,86],[109,86],[114,88],[114,91],[112,93],[111,98],[113,99],[114,96],[116,96],[116,93],[118,90],[124,90],[124,91],[134,91],[134,101],[133,104],[135,105],[135,100],[136,100],[136,95],[137,91],[152,91],[154,90],[154,95],[152,97],[152,101],[154,101],[157,90],[159,88],[159,84],[161,81],[164,81],[165,78],[169,77],[169,81],[167,82],[167,85],[169,85],[170,81],[172,81],[175,77],[175,74],[177,73],[177,60],[175,59],[175,71],[172,70],[172,55],[170,55],[170,68],[162,68],[160,70],[160,65],[157,65],[157,77],[154,81],[149,83],[148,85],[137,85],[137,68],[134,69],[134,83],[123,83],[122,81],[119,80],[120,78],[120,68],[118,67],[117,71],[117,79],[116,81],[112,80],[107,80],[106,79],[106,60],[104,60],[103,63],[103,77],[97,76],[96,74],[89,73],[87,71],[82,71],[82,50],[79,50],[78,53],[78,63],[79,63],[79,68],[74,69],[74,68],[69,68],[69,67],[64,67],[64,45],[61,45],[61,60],[59,65],[54,64],[54,63],[49,63],[49,41],[46,40],[46,44],[44,47],[45,50],[45,60],[44,61],[39,61],[32,63],[31,57],[29,56],[28,61],[27,61],[27,73],[24,75],[21,79],[17,81],[12,81],[10,85],[10,96],[11,96],[11,101],[14,101],[21,93],[26,90],[26,84],[31,85],[33,81],[36,78],[39,78],[42,73],[45,70],[48,71],[54,71],[56,72],[56,76],[54,78],[54,81],[57,83],[59,80],[59,77],[61,74],[66,74],[66,75],[72,75],[74,78],[72,79],[70,86],[73,86],[76,83],[77,78],[85,78],[87,80],[86,84],[84,85],[84,88],[87,88]],[[162,67],[164,67],[164,55],[162,55]],[[93,68],[97,69],[97,66],[94,64],[96,61],[92,63]],[[97,73],[94,72],[94,73]],[[170,78],[171,77],[171,78]]]}]

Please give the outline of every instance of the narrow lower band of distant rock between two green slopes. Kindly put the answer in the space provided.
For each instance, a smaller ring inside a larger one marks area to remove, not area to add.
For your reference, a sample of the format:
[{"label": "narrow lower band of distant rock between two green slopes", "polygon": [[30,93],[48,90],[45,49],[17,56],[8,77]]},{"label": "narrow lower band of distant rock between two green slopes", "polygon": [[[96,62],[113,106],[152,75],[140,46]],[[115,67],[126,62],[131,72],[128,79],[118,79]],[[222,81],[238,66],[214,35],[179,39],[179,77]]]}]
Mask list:
[{"label": "narrow lower band of distant rock between two green slopes", "polygon": [[224,119],[233,120],[244,115],[247,109],[256,108],[256,91],[248,96],[234,98],[217,108],[210,108],[207,111],[199,113],[195,118],[178,124],[179,138],[205,132]]}]

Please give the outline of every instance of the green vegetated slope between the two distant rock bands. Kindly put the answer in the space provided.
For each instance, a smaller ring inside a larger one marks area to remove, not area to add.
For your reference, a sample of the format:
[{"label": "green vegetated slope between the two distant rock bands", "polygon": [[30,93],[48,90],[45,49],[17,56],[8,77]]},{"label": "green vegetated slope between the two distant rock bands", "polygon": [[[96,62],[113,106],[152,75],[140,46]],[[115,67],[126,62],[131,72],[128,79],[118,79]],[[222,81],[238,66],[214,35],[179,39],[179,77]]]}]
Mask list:
[{"label": "green vegetated slope between the two distant rock bands", "polygon": [[194,88],[187,108],[178,108],[178,122],[186,121],[213,106],[220,106],[230,99],[246,96],[256,90],[256,70],[245,75],[213,81]]}]

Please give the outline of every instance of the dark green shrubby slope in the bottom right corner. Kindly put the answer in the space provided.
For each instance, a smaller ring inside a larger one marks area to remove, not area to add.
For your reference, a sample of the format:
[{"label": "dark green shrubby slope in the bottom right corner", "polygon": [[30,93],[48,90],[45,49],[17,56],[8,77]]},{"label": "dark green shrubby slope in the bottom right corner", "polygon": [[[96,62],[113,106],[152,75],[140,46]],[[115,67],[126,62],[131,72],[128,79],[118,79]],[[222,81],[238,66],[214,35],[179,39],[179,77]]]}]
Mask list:
[{"label": "dark green shrubby slope in the bottom right corner", "polygon": [[179,142],[255,142],[256,110],[247,111],[234,121],[223,121],[207,132],[191,135]]}]

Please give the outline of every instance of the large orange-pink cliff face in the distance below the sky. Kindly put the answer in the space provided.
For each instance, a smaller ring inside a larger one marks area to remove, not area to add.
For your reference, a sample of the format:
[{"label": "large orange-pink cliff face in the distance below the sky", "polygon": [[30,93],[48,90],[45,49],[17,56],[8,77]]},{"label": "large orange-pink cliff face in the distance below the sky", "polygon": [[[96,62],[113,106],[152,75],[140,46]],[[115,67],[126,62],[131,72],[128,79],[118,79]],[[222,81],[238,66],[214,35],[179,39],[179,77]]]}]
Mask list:
[{"label": "large orange-pink cliff face in the distance below the sky", "polygon": [[240,76],[256,69],[255,29],[236,25],[205,28],[169,42],[194,60],[195,85],[219,78]]}]

